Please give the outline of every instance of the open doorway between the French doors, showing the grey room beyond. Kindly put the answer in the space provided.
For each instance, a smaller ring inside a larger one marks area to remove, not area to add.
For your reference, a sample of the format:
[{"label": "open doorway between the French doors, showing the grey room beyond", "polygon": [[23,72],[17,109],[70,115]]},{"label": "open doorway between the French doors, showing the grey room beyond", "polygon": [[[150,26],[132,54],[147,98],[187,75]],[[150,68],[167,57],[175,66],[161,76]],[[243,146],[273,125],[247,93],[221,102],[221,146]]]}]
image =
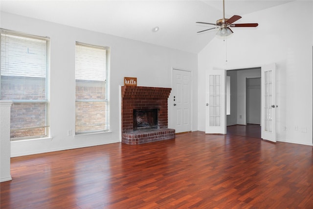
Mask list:
[{"label": "open doorway between the French doors, showing the grey room beyond", "polygon": [[227,134],[261,138],[261,68],[227,70],[230,114]]}]

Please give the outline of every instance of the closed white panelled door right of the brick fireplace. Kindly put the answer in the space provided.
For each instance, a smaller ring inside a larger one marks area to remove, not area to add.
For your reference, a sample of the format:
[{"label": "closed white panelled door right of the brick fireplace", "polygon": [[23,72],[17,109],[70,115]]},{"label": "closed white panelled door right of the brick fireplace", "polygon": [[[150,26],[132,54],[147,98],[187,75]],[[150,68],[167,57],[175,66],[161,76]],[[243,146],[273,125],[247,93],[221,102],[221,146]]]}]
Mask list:
[{"label": "closed white panelled door right of the brick fireplace", "polygon": [[173,124],[176,133],[191,131],[191,72],[173,69]]}]

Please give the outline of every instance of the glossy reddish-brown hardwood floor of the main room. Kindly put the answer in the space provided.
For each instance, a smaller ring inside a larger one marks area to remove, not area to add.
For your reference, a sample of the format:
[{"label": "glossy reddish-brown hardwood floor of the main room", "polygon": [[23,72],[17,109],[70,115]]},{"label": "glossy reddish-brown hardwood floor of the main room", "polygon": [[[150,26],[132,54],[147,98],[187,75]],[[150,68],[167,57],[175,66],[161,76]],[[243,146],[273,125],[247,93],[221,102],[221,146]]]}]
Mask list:
[{"label": "glossy reddish-brown hardwood floor of the main room", "polygon": [[11,159],[1,209],[312,209],[312,146],[180,134]]}]

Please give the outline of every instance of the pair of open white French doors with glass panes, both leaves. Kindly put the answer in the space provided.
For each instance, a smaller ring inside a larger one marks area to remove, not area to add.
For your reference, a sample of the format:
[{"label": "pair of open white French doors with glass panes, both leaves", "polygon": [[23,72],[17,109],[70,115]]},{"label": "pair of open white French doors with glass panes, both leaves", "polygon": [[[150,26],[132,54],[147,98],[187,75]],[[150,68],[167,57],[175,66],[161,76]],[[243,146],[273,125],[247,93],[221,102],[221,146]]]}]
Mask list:
[{"label": "pair of open white French doors with glass panes, both leaves", "polygon": [[[276,142],[275,63],[261,67],[261,138]],[[226,134],[225,70],[205,75],[205,133]]]}]

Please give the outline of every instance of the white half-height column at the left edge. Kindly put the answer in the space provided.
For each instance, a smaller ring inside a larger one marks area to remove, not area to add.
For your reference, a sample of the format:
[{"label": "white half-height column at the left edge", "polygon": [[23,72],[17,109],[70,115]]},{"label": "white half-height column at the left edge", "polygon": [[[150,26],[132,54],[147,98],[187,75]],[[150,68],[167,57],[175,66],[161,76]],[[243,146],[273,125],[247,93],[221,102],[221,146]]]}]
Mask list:
[{"label": "white half-height column at the left edge", "polygon": [[0,101],[0,182],[12,180],[10,173],[10,111],[11,101]]}]

